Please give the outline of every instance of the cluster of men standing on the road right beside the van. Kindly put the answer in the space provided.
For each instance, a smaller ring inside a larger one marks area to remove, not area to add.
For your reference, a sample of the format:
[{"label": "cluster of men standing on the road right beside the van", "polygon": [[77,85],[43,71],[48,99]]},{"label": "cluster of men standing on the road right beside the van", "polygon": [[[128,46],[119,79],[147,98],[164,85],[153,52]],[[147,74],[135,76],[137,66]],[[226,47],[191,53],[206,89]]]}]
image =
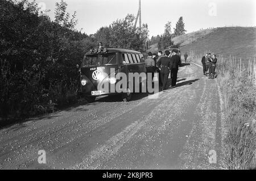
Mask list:
[{"label": "cluster of men standing on the road right beside the van", "polygon": [[158,76],[158,80],[159,85],[162,85],[162,90],[168,89],[167,81],[170,71],[171,86],[176,86],[177,72],[179,70],[179,66],[181,66],[180,56],[177,55],[178,52],[179,50],[177,49],[172,50],[172,52],[166,50],[163,56],[163,52],[159,51],[158,58],[156,60],[154,60],[153,54],[148,52],[148,58],[145,60],[147,74],[152,73],[152,77],[154,77],[155,70],[160,74],[160,76]]}]

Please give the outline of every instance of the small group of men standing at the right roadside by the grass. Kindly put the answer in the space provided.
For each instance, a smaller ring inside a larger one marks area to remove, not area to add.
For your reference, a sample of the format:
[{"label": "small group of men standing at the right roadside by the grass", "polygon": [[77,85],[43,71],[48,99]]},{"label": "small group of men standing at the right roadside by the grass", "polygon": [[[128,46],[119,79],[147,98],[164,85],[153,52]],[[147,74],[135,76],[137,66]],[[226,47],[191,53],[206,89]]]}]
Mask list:
[{"label": "small group of men standing at the right roadside by the grass", "polygon": [[204,75],[209,76],[209,79],[214,79],[216,63],[217,63],[216,55],[213,54],[211,56],[210,53],[207,53],[205,54],[205,56],[203,56],[201,62],[203,64]]}]

